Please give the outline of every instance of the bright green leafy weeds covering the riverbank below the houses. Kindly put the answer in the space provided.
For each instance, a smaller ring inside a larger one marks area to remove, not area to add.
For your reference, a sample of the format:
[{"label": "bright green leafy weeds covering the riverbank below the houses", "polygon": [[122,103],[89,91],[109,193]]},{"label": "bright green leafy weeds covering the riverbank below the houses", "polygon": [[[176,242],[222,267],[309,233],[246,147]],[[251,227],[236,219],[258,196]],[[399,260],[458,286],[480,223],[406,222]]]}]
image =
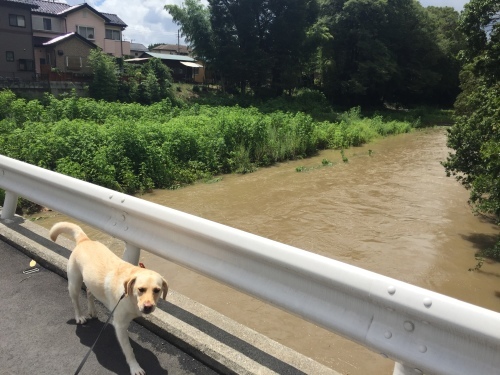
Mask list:
[{"label": "bright green leafy weeds covering the riverbank below the houses", "polygon": [[409,132],[410,122],[359,108],[316,121],[255,107],[149,106],[70,96],[26,101],[0,92],[2,154],[130,194],[359,146]]}]

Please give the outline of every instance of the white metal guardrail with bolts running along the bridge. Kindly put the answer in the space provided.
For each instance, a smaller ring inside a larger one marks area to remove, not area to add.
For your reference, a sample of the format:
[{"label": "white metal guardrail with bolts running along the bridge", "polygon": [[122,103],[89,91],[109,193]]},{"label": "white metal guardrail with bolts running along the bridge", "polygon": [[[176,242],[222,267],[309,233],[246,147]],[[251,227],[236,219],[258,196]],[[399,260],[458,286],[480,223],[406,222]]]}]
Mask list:
[{"label": "white metal guardrail with bolts running along the bridge", "polygon": [[396,361],[394,374],[500,374],[500,314],[0,155],[17,197],[278,306]]}]

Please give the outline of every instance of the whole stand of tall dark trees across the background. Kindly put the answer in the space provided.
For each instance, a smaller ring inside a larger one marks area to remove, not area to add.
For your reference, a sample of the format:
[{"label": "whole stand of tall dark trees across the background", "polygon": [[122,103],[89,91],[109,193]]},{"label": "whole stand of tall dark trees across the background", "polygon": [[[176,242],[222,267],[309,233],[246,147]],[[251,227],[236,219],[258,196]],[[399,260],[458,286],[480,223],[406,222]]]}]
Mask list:
[{"label": "whole stand of tall dark trees across the background", "polygon": [[186,0],[166,5],[228,92],[258,98],[321,90],[352,107],[451,106],[459,92],[451,7],[416,0]]}]

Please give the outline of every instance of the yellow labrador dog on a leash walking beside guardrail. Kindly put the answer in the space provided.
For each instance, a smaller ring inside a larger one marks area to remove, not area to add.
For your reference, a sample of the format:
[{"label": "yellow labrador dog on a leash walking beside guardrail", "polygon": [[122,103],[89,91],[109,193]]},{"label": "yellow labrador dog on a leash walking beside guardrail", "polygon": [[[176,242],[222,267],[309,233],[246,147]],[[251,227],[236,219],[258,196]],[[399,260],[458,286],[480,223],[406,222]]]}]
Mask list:
[{"label": "yellow labrador dog on a leash walking beside guardrail", "polygon": [[61,233],[73,236],[76,242],[68,260],[68,290],[75,308],[76,323],[87,321],[78,301],[82,282],[87,286],[89,317],[97,316],[94,297],[111,311],[125,295],[115,310],[113,326],[130,374],[144,375],[145,371],[135,359],[127,330],[132,319],[153,312],[160,293],[164,299],[167,297],[167,282],[157,272],[127,263],[102,243],[90,240],[76,224],[55,224],[50,230],[50,238],[55,241]]}]

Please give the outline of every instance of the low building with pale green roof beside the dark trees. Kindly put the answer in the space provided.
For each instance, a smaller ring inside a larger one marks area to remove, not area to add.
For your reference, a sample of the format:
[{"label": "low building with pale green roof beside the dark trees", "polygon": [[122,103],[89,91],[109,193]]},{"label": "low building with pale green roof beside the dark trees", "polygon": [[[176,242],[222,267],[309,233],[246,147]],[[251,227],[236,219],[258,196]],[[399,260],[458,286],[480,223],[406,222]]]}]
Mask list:
[{"label": "low building with pale green roof beside the dark trees", "polygon": [[139,58],[125,60],[129,63],[141,64],[151,58],[160,59],[172,72],[172,78],[177,82],[203,82],[203,65],[195,59],[185,55],[171,55],[166,53],[143,52]]}]

